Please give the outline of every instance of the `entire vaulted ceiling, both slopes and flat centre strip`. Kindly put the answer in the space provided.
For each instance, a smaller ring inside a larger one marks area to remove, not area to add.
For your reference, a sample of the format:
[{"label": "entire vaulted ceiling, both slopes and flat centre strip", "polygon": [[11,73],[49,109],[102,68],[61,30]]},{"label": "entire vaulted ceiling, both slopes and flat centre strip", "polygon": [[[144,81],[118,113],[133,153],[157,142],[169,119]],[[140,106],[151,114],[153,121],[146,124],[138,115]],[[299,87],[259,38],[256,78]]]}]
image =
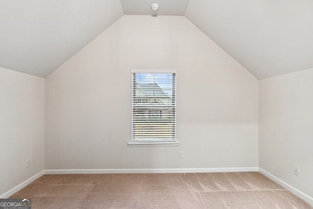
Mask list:
[{"label": "entire vaulted ceiling, both slopes and flat centre strip", "polygon": [[184,15],[258,79],[313,68],[313,0],[0,0],[0,67],[46,77],[124,14]]}]

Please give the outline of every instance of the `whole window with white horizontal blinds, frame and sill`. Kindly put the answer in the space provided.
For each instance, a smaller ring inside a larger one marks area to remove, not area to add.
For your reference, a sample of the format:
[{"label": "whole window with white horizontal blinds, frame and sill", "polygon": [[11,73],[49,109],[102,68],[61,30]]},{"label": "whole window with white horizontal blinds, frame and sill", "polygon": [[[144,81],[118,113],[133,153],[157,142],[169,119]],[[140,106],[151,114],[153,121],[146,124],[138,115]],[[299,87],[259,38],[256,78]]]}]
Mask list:
[{"label": "whole window with white horizontal blinds, frame and sill", "polygon": [[132,70],[133,122],[129,145],[178,145],[176,71]]}]

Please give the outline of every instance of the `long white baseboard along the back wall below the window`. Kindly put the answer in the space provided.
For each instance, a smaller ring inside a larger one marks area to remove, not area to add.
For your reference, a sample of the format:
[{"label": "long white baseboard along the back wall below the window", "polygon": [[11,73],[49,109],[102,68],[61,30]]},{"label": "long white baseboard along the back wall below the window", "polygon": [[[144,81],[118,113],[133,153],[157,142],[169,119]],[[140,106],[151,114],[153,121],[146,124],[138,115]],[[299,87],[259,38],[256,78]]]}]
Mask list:
[{"label": "long white baseboard along the back wall below the window", "polygon": [[101,173],[208,173],[208,172],[250,172],[258,167],[229,168],[150,168],[150,169],[48,169],[45,174],[101,174]]}]

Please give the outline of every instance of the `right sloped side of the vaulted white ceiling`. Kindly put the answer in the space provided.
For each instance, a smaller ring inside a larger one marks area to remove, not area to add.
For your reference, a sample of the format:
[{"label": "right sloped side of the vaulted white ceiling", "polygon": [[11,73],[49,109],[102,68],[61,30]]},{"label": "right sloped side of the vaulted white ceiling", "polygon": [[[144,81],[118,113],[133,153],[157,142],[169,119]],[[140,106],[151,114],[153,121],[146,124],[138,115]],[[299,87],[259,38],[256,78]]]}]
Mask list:
[{"label": "right sloped side of the vaulted white ceiling", "polygon": [[185,16],[258,79],[313,68],[313,0],[190,0]]}]

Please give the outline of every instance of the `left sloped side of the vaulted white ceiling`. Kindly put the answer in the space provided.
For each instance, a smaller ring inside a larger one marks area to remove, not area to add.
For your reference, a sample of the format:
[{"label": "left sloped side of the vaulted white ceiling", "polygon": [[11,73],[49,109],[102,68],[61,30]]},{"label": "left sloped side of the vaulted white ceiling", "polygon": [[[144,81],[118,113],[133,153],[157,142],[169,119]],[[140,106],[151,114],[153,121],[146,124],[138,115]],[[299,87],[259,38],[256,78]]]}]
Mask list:
[{"label": "left sloped side of the vaulted white ceiling", "polygon": [[0,0],[0,67],[46,77],[123,15],[119,0]]}]

